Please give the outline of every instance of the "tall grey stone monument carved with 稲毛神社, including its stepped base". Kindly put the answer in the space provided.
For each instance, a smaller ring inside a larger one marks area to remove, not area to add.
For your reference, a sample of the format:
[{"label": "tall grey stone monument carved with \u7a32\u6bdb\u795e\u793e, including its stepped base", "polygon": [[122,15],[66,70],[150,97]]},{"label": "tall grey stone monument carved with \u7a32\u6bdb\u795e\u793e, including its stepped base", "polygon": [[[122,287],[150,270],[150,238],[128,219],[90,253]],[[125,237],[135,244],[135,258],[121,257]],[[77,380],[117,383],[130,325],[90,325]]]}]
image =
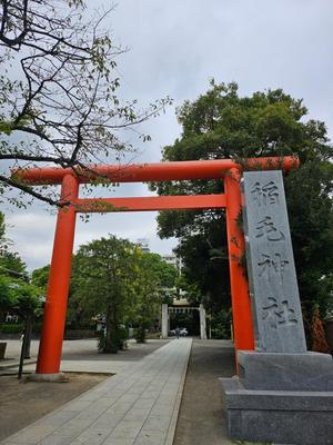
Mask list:
[{"label": "tall grey stone monument carved with \u7a32\u6bdb\u795e\u793e, including its stepped base", "polygon": [[282,172],[244,172],[242,199],[255,352],[221,378],[230,437],[333,444],[332,357],[306,352]]}]

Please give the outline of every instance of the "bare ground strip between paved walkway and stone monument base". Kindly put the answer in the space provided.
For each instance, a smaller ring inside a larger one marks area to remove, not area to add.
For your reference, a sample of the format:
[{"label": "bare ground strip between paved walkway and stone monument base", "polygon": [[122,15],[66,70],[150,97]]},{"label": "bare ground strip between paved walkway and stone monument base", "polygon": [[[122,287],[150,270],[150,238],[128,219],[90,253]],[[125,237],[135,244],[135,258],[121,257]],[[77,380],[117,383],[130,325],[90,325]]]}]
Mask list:
[{"label": "bare ground strip between paved walkway and stone monument base", "polygon": [[228,340],[194,339],[173,445],[229,445],[219,377],[232,377]]}]

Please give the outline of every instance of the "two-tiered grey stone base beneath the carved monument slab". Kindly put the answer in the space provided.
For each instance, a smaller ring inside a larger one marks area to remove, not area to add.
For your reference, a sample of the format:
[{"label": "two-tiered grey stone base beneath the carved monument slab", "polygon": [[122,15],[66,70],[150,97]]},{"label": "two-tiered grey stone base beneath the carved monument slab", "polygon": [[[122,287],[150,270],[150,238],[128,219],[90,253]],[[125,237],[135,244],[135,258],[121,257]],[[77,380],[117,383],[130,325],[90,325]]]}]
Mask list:
[{"label": "two-tiered grey stone base beneath the carved monument slab", "polygon": [[221,378],[230,438],[333,445],[333,362],[319,353],[240,350]]}]

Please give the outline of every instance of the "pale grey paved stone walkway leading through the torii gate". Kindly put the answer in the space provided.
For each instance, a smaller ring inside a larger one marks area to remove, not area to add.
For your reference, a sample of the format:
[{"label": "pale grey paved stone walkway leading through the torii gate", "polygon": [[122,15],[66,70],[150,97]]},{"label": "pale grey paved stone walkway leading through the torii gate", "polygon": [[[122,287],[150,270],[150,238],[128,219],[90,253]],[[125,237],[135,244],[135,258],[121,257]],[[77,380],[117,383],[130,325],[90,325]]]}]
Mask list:
[{"label": "pale grey paved stone walkway leading through the torii gate", "polygon": [[1,445],[172,445],[191,343],[174,339],[128,363]]}]

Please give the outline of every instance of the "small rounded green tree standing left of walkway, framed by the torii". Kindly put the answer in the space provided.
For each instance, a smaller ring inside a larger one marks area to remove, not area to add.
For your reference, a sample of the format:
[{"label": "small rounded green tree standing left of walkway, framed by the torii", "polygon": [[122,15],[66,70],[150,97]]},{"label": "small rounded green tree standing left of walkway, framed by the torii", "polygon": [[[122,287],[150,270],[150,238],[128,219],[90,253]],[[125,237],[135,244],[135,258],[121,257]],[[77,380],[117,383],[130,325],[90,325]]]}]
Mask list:
[{"label": "small rounded green tree standing left of walkway, framed by the torii", "polygon": [[72,299],[85,317],[105,316],[104,353],[117,353],[133,306],[137,247],[110,235],[81,246],[74,258]]}]

